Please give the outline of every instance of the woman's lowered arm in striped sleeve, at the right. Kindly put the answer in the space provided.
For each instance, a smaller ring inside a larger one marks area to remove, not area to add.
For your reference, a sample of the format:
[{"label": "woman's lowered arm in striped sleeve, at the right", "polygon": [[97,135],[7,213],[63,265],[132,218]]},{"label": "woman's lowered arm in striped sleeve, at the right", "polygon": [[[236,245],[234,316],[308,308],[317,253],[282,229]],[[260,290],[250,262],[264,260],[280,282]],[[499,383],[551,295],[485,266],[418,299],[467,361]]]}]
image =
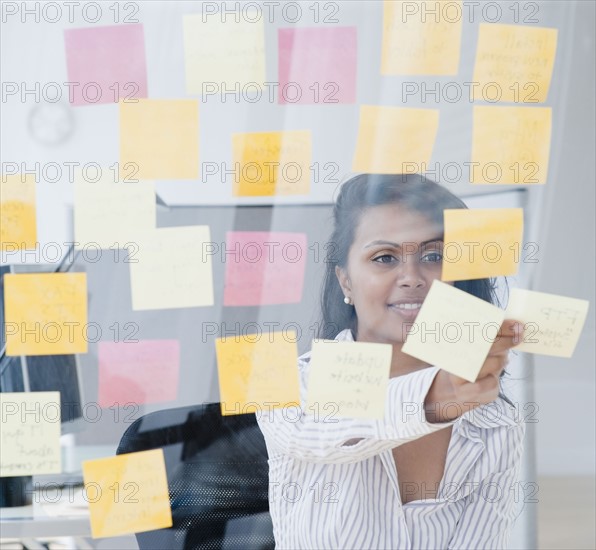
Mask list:
[{"label": "woman's lowered arm in striped sleeve, at the right", "polygon": [[516,520],[517,483],[525,425],[509,428],[502,442],[502,454],[496,470],[466,496],[466,507],[458,522],[450,550],[503,549]]}]

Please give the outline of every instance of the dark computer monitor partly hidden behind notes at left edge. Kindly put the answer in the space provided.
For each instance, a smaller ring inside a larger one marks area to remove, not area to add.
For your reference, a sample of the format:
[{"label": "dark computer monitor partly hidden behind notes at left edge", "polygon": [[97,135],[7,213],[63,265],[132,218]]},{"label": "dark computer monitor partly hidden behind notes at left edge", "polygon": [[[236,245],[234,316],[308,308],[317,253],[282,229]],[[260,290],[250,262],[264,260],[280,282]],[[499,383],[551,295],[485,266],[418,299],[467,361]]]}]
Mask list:
[{"label": "dark computer monitor partly hidden behind notes at left edge", "polygon": [[76,355],[8,357],[4,326],[4,275],[54,272],[55,266],[0,266],[0,392],[59,391],[62,433],[83,428],[83,389]]}]

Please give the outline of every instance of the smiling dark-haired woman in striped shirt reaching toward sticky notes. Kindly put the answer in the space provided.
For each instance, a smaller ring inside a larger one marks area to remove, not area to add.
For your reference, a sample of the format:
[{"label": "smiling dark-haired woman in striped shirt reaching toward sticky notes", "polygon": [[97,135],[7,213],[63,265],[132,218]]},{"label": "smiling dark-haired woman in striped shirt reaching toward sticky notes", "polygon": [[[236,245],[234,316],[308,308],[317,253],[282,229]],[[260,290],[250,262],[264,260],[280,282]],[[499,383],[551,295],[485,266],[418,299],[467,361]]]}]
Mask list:
[{"label": "smiling dark-haired woman in striped shirt reaching toward sticky notes", "polygon": [[[441,276],[447,208],[465,205],[419,175],[365,174],[342,186],[321,336],[392,345],[386,410],[379,421],[325,422],[304,406],[297,421],[283,410],[261,416],[278,548],[507,544],[524,426],[499,395],[499,377],[521,326],[503,323],[475,383],[401,351]],[[455,286],[492,301],[488,280]],[[303,405],[309,360],[298,365]]]}]

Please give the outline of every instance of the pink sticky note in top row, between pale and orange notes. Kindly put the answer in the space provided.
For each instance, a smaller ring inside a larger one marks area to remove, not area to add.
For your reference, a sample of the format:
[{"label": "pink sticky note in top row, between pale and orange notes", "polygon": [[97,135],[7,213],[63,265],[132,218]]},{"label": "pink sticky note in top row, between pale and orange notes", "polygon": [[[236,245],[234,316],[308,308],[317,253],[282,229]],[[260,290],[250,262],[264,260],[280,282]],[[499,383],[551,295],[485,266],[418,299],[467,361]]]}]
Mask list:
[{"label": "pink sticky note in top row, between pale and orange notes", "polygon": [[356,101],[356,27],[279,29],[279,103]]}]

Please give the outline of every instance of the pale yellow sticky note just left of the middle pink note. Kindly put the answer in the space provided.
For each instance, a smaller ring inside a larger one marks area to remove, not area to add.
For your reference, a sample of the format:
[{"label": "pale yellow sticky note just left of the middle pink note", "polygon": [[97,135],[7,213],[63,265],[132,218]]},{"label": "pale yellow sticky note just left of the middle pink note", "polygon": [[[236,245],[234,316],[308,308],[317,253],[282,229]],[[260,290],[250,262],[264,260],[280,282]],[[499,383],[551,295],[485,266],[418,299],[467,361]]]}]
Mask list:
[{"label": "pale yellow sticky note just left of the middle pink note", "polygon": [[132,309],[213,305],[207,225],[163,227],[128,247]]}]

